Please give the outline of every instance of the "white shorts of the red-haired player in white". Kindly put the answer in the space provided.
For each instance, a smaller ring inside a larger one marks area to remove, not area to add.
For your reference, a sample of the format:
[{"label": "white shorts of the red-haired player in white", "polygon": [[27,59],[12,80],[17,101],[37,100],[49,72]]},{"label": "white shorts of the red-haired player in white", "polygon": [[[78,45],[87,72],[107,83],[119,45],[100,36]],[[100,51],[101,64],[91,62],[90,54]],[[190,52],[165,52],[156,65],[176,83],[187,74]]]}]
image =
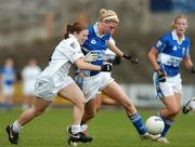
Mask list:
[{"label": "white shorts of the red-haired player in white", "polygon": [[53,77],[52,79],[40,78],[35,84],[35,95],[47,101],[52,101],[61,90],[73,82],[74,80],[69,76],[62,79],[60,83],[55,83]]}]

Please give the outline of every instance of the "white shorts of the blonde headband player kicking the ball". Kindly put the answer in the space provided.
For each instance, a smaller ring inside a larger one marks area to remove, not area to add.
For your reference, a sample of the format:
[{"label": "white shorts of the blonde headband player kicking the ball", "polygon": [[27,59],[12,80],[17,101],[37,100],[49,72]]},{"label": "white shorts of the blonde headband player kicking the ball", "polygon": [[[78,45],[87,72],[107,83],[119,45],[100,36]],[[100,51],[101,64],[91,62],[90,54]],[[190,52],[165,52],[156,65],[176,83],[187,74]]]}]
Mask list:
[{"label": "white shorts of the blonde headband player kicking the ball", "polygon": [[113,81],[114,79],[110,76],[105,75],[104,72],[100,72],[92,77],[83,78],[81,89],[87,98],[87,102],[89,102],[92,98],[95,98],[96,94],[100,91],[104,90],[104,88]]}]

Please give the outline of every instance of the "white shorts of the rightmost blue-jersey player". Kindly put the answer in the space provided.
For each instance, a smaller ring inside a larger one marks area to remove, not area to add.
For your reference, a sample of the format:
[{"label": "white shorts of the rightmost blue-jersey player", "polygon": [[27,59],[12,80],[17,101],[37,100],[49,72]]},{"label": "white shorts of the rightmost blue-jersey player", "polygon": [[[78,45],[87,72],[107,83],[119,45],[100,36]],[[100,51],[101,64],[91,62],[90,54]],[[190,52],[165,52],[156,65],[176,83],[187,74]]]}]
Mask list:
[{"label": "white shorts of the rightmost blue-jersey player", "polygon": [[182,94],[182,80],[180,74],[174,77],[166,77],[166,82],[158,82],[157,75],[154,74],[153,81],[156,88],[157,98],[174,95],[174,93]]}]

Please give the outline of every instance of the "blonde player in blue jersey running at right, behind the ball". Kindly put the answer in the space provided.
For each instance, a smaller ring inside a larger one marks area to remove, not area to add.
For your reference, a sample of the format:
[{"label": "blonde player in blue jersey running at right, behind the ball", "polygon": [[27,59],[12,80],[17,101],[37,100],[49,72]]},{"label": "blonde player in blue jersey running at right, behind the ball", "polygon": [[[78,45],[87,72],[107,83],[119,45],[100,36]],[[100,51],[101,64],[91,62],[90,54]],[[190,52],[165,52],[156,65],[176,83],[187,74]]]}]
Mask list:
[{"label": "blonde player in blue jersey running at right, behind the ball", "polygon": [[182,95],[181,62],[183,61],[186,68],[195,72],[190,57],[191,41],[184,35],[186,28],[186,16],[178,15],[173,22],[173,30],[159,38],[156,45],[147,54],[154,68],[153,79],[156,86],[156,96],[166,106],[157,113],[165,121],[161,137],[157,139],[160,143],[169,143],[165,136],[180,111]]}]

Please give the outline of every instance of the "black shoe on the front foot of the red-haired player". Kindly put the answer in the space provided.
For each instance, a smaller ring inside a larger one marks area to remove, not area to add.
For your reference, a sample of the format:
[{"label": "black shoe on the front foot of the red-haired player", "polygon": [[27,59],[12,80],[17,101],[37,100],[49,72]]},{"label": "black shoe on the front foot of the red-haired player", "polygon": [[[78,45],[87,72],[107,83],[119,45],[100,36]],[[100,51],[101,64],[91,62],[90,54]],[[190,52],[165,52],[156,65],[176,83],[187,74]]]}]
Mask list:
[{"label": "black shoe on the front foot of the red-haired player", "polygon": [[68,145],[77,146],[78,142],[88,143],[88,142],[93,141],[92,137],[84,135],[82,132],[78,132],[78,133],[73,134],[70,126],[66,128],[66,132],[67,132]]}]

